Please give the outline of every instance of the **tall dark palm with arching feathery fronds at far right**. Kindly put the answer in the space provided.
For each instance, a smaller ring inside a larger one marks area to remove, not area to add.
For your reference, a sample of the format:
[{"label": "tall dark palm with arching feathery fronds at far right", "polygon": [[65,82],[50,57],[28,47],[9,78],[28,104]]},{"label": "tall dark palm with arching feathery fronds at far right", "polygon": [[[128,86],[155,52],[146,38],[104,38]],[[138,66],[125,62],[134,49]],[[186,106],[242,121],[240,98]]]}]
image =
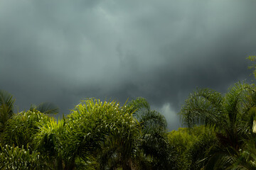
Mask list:
[{"label": "tall dark palm with arching feathery fronds at far right", "polygon": [[[194,125],[209,125],[218,139],[216,146],[208,147],[207,159],[198,162],[231,167],[239,156],[243,141],[252,129],[255,116],[255,87],[235,84],[222,95],[210,89],[197,89],[186,100],[181,109],[181,118],[188,128]],[[206,165],[205,164],[205,165]],[[209,167],[206,165],[206,167]]]}]

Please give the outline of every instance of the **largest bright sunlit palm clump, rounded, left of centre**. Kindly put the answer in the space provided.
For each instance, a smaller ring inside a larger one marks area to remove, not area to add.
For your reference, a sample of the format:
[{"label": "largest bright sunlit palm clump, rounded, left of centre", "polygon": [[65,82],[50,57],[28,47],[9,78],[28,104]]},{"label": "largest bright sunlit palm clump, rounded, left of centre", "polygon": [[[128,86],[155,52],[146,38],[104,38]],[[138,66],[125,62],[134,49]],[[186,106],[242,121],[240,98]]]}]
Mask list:
[{"label": "largest bright sunlit palm clump, rounded, left of centre", "polygon": [[139,125],[126,106],[97,99],[81,101],[67,118],[58,123],[49,120],[39,128],[34,144],[55,169],[126,165],[133,157],[139,133]]}]

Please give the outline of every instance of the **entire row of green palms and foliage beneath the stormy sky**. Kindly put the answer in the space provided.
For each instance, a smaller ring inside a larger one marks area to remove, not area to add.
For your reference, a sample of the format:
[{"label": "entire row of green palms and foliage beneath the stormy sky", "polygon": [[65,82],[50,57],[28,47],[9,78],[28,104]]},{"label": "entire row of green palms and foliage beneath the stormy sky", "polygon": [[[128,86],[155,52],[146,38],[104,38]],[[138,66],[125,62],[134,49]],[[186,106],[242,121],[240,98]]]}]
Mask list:
[{"label": "entire row of green palms and foliage beneath the stormy sky", "polygon": [[145,98],[89,98],[56,120],[50,103],[14,113],[0,91],[0,169],[256,169],[256,88],[196,89],[169,132]]}]

